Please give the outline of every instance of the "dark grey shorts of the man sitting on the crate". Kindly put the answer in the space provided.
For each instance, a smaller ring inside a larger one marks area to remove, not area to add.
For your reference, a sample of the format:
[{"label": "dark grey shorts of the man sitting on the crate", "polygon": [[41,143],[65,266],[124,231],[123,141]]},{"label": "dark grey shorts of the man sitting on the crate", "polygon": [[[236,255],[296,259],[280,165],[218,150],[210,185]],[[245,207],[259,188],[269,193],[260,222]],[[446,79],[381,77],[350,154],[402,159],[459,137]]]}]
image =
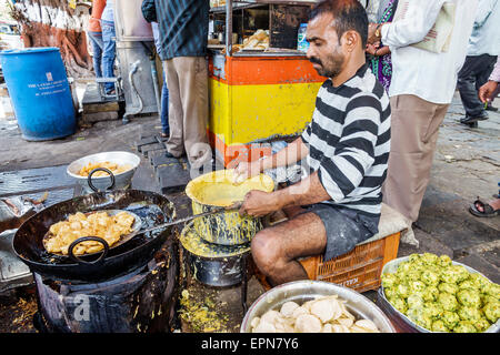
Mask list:
[{"label": "dark grey shorts of the man sitting on the crate", "polygon": [[349,253],[356,244],[370,239],[378,231],[379,219],[361,216],[353,210],[327,203],[302,207],[306,209],[303,213],[312,212],[318,215],[327,230],[324,261]]}]

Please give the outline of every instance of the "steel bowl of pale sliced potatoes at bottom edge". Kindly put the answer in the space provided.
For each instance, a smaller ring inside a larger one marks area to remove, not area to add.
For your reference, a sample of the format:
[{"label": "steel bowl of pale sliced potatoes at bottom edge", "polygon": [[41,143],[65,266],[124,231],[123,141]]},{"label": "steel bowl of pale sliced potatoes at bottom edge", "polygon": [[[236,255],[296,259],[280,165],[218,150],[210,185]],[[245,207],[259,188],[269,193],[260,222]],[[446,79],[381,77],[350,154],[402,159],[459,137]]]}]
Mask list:
[{"label": "steel bowl of pale sliced potatoes at bottom edge", "polygon": [[296,281],[262,294],[248,310],[241,333],[396,333],[369,298],[337,284]]}]

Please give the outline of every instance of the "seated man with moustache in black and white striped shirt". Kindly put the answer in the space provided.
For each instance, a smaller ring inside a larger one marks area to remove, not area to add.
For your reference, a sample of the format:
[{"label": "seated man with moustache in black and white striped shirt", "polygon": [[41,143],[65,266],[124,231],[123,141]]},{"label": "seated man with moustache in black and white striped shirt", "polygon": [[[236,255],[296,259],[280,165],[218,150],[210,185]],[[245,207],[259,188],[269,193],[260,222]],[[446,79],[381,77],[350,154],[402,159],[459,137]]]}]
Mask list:
[{"label": "seated man with moustache in black and white striped shirt", "polygon": [[307,29],[308,58],[329,78],[320,88],[311,123],[282,151],[240,163],[237,181],[306,159],[311,174],[271,193],[251,191],[241,214],[283,210],[289,220],[260,231],[252,256],[277,285],[307,278],[298,257],[328,261],[378,232],[381,185],[390,150],[390,106],[364,59],[368,19],[357,0],[317,3]]}]

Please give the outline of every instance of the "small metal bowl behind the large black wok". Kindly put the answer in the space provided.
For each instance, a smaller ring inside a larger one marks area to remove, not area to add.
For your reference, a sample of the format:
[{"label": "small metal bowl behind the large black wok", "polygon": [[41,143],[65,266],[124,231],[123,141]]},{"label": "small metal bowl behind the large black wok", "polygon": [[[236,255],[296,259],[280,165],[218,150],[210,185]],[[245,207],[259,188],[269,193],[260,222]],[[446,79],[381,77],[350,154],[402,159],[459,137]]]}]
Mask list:
[{"label": "small metal bowl behind the large black wok", "polygon": [[[133,174],[139,166],[141,159],[129,152],[102,152],[97,154],[87,155],[73,161],[68,165],[67,173],[71,178],[74,178],[77,182],[82,186],[83,192],[92,193],[94,192],[90,186],[87,176],[81,176],[78,172],[86,166],[88,163],[103,163],[112,162],[117,164],[129,164],[132,168],[120,174],[114,174],[114,185],[112,189],[123,190],[130,187],[132,183]],[[106,191],[112,185],[111,176],[92,176],[92,184],[98,191]]]}]

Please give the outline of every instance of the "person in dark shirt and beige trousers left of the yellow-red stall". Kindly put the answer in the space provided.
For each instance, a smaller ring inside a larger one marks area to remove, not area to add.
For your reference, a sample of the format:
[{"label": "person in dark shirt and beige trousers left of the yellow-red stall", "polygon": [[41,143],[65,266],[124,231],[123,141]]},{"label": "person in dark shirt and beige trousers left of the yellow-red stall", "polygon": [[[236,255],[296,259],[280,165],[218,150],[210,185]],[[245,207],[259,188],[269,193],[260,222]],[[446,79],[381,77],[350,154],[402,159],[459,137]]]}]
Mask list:
[{"label": "person in dark shirt and beige trousers left of the yellow-red stall", "polygon": [[168,156],[184,153],[192,169],[211,161],[208,144],[208,0],[158,0],[161,59],[169,90]]}]

